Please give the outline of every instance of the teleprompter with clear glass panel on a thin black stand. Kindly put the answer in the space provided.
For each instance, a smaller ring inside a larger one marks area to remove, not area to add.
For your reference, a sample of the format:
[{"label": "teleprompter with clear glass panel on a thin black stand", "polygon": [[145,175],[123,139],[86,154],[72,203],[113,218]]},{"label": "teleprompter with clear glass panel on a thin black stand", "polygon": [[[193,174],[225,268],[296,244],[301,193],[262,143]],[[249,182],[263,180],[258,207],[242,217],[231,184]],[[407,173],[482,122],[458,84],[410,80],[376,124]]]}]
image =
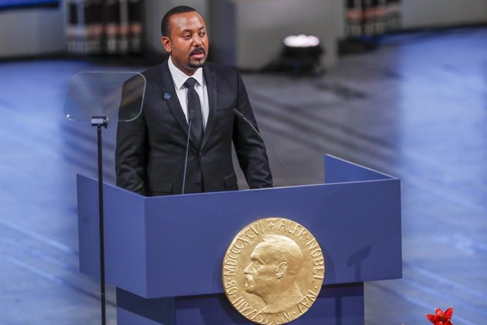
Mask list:
[{"label": "teleprompter with clear glass panel on a thin black stand", "polygon": [[[71,121],[90,122],[97,127],[97,256],[100,278],[102,325],[106,321],[105,259],[104,259],[104,199],[102,165],[102,127],[107,129],[109,118],[119,122],[136,119],[142,108],[145,78],[138,72],[112,71],[80,72],[68,81],[64,114]],[[95,193],[95,189],[94,192]],[[93,201],[92,203],[95,203]]]}]

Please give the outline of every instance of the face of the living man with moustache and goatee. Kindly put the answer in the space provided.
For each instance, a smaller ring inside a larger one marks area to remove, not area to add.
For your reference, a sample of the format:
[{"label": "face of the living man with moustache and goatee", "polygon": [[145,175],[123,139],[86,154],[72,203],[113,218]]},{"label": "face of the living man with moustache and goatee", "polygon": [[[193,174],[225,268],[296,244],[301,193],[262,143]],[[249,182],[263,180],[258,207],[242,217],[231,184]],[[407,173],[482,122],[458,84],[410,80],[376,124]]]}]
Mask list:
[{"label": "face of the living man with moustache and goatee", "polygon": [[208,56],[208,35],[203,17],[196,11],[178,13],[169,18],[169,37],[161,38],[176,67],[192,76],[205,64]]}]

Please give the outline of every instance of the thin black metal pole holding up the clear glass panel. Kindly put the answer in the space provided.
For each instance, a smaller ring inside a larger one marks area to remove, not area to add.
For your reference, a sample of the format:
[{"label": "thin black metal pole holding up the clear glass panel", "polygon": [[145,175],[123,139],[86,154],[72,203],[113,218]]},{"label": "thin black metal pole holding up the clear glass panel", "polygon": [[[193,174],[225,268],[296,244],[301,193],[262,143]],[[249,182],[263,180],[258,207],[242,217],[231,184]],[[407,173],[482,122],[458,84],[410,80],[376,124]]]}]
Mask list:
[{"label": "thin black metal pole holding up the clear glass panel", "polygon": [[98,212],[100,215],[100,299],[102,301],[102,325],[107,324],[105,308],[105,258],[103,230],[103,160],[102,160],[102,126],[107,128],[107,117],[92,117],[91,125],[97,126],[98,146]]}]

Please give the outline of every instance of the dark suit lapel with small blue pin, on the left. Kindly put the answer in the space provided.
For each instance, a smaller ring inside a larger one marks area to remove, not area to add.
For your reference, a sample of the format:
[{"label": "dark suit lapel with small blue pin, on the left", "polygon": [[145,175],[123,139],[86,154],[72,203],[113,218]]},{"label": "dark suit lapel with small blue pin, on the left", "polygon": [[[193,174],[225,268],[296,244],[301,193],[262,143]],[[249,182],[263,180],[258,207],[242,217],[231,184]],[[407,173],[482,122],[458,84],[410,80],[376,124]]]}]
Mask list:
[{"label": "dark suit lapel with small blue pin, on the left", "polygon": [[164,101],[167,102],[169,109],[171,109],[174,118],[181,126],[181,129],[183,129],[184,134],[188,136],[188,121],[186,120],[186,116],[181,108],[181,103],[179,102],[176,90],[174,89],[174,82],[172,81],[172,76],[171,72],[169,71],[167,61],[161,65],[160,78],[162,98],[164,98]]}]

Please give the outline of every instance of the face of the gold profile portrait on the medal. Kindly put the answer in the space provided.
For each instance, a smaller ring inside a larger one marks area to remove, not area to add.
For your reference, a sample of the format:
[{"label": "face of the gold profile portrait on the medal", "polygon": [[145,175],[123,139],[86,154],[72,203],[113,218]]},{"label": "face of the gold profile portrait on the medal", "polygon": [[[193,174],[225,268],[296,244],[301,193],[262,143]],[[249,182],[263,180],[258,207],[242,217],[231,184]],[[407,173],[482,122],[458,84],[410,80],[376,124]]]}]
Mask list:
[{"label": "face of the gold profile portrait on the medal", "polygon": [[272,258],[272,245],[258,244],[251,254],[251,263],[245,268],[245,290],[262,295],[272,289],[279,271],[277,261]]}]

